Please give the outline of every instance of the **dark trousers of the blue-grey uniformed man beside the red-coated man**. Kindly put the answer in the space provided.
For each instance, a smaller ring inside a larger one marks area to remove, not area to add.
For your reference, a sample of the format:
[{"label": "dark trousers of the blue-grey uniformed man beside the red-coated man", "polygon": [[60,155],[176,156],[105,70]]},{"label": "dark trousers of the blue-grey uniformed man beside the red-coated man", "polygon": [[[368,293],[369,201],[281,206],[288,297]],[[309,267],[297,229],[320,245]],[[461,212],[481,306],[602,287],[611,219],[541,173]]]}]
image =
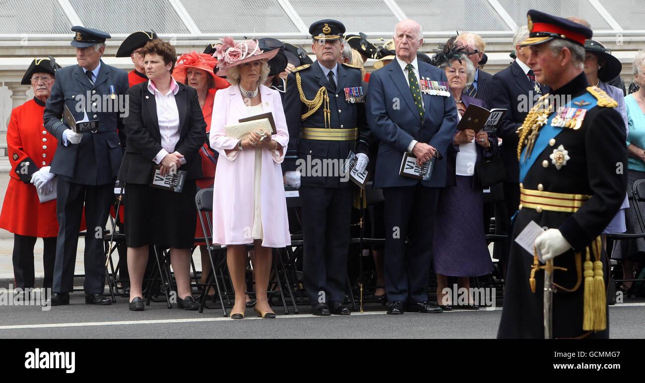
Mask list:
[{"label": "dark trousers of the blue-grey uniformed man beside the red-coated man", "polygon": [[74,265],[79,241],[83,201],[85,202],[85,282],[86,294],[103,294],[105,286],[105,253],[103,238],[96,238],[96,228],[105,227],[110,205],[114,201],[114,186],[81,185],[59,177],[57,186],[58,241],[54,265],[54,292],[66,293],[74,289]]}]

